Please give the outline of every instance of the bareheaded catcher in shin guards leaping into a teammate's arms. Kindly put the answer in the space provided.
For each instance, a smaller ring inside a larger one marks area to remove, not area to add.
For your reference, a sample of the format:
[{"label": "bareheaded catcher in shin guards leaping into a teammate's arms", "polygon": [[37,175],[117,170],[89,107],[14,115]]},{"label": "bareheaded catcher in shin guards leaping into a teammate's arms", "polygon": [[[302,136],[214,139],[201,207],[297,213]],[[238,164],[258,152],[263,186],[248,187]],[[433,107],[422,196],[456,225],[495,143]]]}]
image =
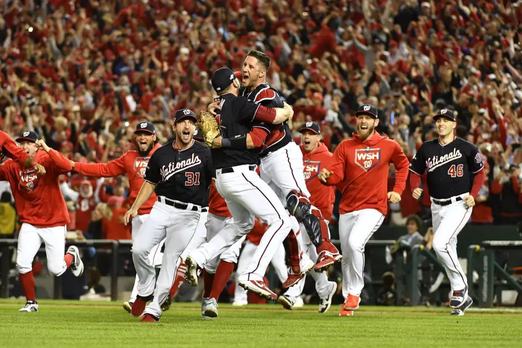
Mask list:
[{"label": "bareheaded catcher in shin guards leaping into a teammate's arms", "polygon": [[[270,68],[270,57],[263,52],[248,52],[242,68],[242,95],[256,103],[271,107],[281,107],[278,93],[266,82]],[[319,257],[314,269],[322,272],[339,262],[342,256],[330,242],[330,231],[321,211],[310,204],[310,192],[303,177],[303,155],[299,146],[292,139],[287,123],[269,125],[261,123],[254,127],[264,128],[269,135],[259,153],[261,159],[260,177],[280,194],[280,199],[293,215],[292,230],[299,236],[299,223],[311,237]],[[294,218],[295,217],[295,218]],[[299,240],[299,239],[298,239]],[[288,243],[290,253],[299,254],[300,250]],[[290,268],[289,280],[283,287],[296,284],[309,269],[293,272]],[[298,274],[295,274],[298,273]]]}]

